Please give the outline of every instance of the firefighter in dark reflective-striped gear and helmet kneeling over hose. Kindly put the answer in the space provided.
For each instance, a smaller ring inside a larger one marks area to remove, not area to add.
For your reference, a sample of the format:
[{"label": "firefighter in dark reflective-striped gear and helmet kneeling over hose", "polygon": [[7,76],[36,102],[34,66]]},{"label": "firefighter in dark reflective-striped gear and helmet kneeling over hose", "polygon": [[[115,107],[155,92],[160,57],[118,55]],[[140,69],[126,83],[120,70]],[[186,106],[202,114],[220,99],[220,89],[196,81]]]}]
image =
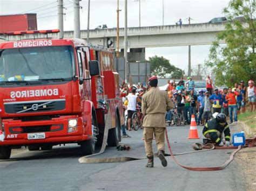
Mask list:
[{"label": "firefighter in dark reflective-striped gear and helmet kneeling over hose", "polygon": [[208,121],[203,129],[203,135],[207,138],[206,140],[210,139],[210,142],[215,142],[218,146],[224,146],[222,140],[223,132],[226,140],[225,145],[230,146],[230,128],[226,122],[225,114],[222,113],[215,115],[215,118]]}]

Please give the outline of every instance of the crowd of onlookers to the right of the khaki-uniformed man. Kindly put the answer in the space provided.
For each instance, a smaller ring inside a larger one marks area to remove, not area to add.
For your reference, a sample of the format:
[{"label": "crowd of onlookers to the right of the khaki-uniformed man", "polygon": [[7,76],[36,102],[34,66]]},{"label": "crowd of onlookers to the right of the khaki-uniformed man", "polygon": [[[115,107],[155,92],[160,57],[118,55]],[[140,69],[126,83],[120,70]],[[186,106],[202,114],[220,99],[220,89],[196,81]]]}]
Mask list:
[{"label": "crowd of onlookers to the right of the khaki-uniformed man", "polygon": [[[207,76],[206,90],[200,89],[198,95],[194,93],[194,81],[188,77],[185,83],[181,79],[178,86],[170,81],[167,87],[168,95],[176,105],[177,112],[184,116],[185,123],[190,124],[191,116],[194,114],[197,125],[204,125],[212,118],[214,112],[229,116],[230,123],[237,122],[237,115],[245,112],[246,103],[250,104],[250,111],[255,111],[256,87],[252,80],[248,81],[248,87],[244,81],[235,83],[234,87],[223,89],[214,88],[212,79]],[[213,90],[213,91],[212,91]],[[167,122],[171,123],[171,111],[167,114]]]}]

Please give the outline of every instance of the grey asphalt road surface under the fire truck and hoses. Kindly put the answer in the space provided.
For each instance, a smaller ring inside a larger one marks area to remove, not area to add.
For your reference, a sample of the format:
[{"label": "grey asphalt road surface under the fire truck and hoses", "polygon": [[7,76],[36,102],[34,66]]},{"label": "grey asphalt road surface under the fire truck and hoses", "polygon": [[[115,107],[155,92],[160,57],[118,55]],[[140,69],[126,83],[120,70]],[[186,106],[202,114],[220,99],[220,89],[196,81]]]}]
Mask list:
[{"label": "grey asphalt road surface under the fire truck and hoses", "polygon": [[[189,126],[168,127],[174,153],[193,151],[191,144],[200,139],[187,139]],[[200,138],[201,127],[198,127]],[[145,157],[143,130],[129,131],[130,151],[107,147],[98,157]],[[153,142],[155,145],[155,142]],[[156,147],[154,151],[157,152]],[[167,147],[166,147],[167,152]],[[220,166],[232,150],[213,150],[177,156],[189,166]],[[234,161],[223,171],[194,172],[177,166],[167,157],[163,167],[155,158],[154,168],[145,168],[146,159],[123,163],[79,164],[79,146],[55,146],[51,151],[28,151],[0,161],[0,190],[246,190]]]}]

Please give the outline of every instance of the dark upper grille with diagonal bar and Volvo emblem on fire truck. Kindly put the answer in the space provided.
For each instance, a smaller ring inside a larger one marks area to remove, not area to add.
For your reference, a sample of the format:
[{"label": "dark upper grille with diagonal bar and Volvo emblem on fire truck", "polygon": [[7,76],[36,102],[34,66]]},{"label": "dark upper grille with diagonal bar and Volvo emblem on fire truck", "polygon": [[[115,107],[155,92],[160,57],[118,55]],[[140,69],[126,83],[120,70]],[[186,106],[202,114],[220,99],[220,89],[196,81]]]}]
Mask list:
[{"label": "dark upper grille with diagonal bar and Volvo emblem on fire truck", "polygon": [[7,114],[24,114],[31,112],[63,110],[65,109],[65,104],[65,99],[30,102],[10,102],[4,103],[4,109]]}]

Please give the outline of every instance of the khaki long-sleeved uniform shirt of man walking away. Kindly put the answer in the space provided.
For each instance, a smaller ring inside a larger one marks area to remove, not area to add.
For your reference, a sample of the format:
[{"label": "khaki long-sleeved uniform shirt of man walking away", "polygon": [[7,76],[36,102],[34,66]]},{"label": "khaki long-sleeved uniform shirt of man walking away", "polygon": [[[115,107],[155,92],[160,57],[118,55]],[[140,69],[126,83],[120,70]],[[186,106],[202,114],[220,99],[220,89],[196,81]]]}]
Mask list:
[{"label": "khaki long-sleeved uniform shirt of man walking away", "polygon": [[166,110],[172,108],[173,103],[167,96],[166,91],[151,87],[142,97],[143,126],[165,128]]}]

